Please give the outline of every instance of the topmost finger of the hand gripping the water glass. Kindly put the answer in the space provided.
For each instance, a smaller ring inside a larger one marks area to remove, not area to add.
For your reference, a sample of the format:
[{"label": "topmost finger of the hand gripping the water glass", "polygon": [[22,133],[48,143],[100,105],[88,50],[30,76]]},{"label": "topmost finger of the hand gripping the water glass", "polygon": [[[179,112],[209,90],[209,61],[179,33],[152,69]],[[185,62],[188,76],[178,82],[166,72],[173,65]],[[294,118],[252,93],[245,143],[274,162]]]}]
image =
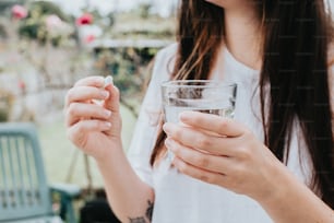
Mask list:
[{"label": "topmost finger of the hand gripping the water glass", "polygon": [[191,127],[213,131],[226,137],[239,137],[244,132],[241,125],[237,125],[235,120],[216,115],[183,111],[180,114],[180,120]]}]

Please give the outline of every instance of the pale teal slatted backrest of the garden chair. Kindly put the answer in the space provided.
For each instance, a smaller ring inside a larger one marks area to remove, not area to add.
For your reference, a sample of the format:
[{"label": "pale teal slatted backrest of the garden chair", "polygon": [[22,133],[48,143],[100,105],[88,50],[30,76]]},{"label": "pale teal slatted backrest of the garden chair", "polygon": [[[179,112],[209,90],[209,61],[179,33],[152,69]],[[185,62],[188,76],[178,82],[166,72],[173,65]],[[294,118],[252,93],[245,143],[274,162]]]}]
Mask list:
[{"label": "pale teal slatted backrest of the garden chair", "polygon": [[0,222],[51,213],[34,125],[0,124]]}]

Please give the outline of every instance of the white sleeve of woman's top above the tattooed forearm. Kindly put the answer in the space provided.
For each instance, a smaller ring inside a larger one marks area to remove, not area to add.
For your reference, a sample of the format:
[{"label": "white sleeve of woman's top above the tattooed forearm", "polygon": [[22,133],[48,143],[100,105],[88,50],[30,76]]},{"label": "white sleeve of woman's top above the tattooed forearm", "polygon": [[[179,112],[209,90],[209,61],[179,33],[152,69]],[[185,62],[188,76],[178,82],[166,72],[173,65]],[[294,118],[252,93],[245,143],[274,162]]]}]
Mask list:
[{"label": "white sleeve of woman's top above the tattooed forearm", "polygon": [[128,151],[131,166],[139,177],[151,186],[153,186],[153,169],[150,159],[158,133],[158,121],[162,114],[160,84],[169,80],[175,52],[176,44],[172,44],[162,49],[155,57],[152,79],[141,105]]}]

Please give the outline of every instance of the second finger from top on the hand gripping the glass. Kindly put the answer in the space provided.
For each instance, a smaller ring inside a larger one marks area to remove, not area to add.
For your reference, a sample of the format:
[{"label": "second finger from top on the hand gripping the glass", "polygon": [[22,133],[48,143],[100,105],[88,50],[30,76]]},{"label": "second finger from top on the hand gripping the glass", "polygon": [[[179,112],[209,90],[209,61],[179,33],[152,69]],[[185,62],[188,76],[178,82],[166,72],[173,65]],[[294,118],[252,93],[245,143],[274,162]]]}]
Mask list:
[{"label": "second finger from top on the hand gripping the glass", "polygon": [[217,137],[196,131],[193,128],[167,122],[164,125],[164,131],[175,141],[184,146],[206,151],[215,155],[234,156],[234,138]]}]

